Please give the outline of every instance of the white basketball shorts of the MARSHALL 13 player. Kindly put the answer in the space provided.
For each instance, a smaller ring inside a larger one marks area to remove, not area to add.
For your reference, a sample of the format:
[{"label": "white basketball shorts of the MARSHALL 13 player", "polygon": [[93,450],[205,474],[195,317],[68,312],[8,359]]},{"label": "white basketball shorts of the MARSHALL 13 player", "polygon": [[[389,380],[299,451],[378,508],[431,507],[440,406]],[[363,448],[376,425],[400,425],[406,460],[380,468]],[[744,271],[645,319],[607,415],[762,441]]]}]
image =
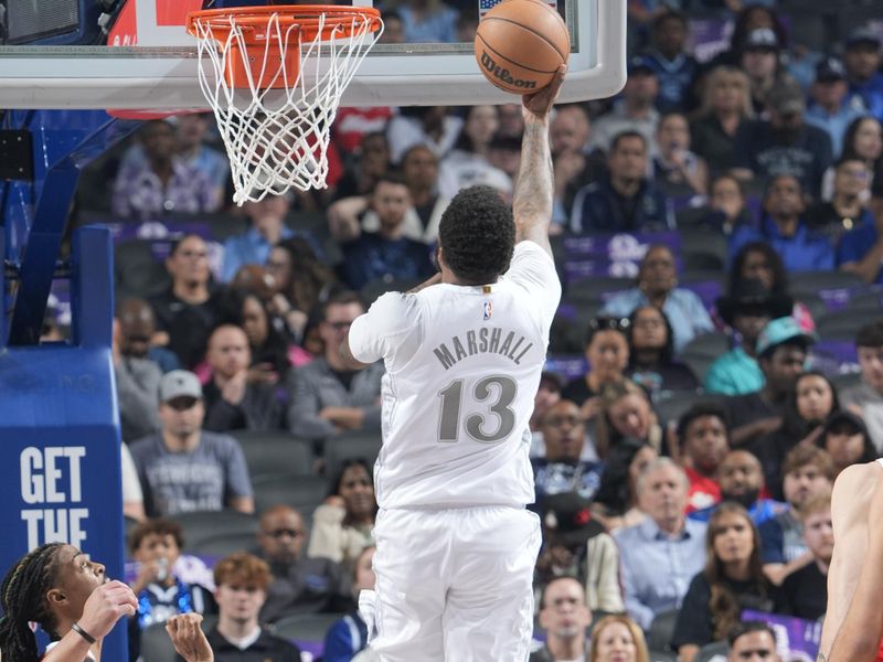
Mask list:
[{"label": "white basketball shorts of the MARSHALL 13 player", "polygon": [[383,662],[525,662],[540,519],[504,506],[386,510],[359,609]]}]

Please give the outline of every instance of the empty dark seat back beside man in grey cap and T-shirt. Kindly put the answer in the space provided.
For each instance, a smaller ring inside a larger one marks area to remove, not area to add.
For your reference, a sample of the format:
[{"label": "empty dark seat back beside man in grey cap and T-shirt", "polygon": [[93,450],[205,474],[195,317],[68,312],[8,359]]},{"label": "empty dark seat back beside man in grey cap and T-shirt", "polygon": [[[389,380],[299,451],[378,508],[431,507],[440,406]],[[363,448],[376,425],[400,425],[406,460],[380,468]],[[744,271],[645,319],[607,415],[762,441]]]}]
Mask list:
[{"label": "empty dark seat back beside man in grey cap and T-shirt", "polygon": [[252,480],[279,473],[312,473],[312,447],[302,439],[296,439],[285,431],[237,430],[231,435],[242,446]]}]

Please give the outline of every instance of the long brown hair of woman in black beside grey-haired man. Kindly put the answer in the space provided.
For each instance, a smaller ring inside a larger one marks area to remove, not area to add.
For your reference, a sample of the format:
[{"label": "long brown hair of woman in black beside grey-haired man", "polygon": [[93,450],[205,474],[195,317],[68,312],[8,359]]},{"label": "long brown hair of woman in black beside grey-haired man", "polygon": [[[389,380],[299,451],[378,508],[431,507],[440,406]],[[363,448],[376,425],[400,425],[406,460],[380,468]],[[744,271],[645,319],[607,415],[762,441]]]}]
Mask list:
[{"label": "long brown hair of woman in black beside grey-haired man", "polygon": [[765,598],[767,596],[767,580],[764,576],[764,566],[760,562],[760,534],[757,532],[752,521],[748,511],[742,505],[733,501],[724,501],[717,506],[711,519],[709,520],[709,527],[705,534],[705,579],[711,587],[711,597],[709,599],[709,617],[713,623],[713,639],[715,641],[723,639],[738,622],[741,607],[738,598],[730,587],[730,578],[726,576],[726,569],[723,562],[714,553],[714,540],[719,535],[717,522],[725,515],[736,514],[742,516],[748,526],[751,526],[754,537],[752,545],[752,555],[748,559],[748,573],[751,581],[754,586],[756,595]]}]

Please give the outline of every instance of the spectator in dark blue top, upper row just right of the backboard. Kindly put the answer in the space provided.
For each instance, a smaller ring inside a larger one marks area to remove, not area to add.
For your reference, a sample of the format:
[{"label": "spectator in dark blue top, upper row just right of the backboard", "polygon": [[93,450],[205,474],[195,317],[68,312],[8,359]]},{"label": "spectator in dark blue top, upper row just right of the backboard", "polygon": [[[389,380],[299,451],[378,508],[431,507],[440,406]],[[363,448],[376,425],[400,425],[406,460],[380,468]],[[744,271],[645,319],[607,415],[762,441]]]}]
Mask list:
[{"label": "spectator in dark blue top, upper row just right of the backboard", "polygon": [[699,72],[699,63],[687,47],[690,25],[687,14],[663,10],[650,25],[650,49],[645,58],[659,81],[656,106],[662,113],[688,106],[690,86]]}]

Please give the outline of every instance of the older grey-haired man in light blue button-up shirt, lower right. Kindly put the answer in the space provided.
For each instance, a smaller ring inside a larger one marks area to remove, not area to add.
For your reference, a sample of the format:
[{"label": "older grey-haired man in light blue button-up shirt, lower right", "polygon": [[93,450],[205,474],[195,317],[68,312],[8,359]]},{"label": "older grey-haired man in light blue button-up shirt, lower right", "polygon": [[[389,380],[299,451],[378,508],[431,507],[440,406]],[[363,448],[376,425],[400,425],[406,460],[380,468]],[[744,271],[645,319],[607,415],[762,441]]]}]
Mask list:
[{"label": "older grey-haired man in light blue button-up shirt, lower right", "polygon": [[626,609],[645,630],[657,615],[681,606],[705,565],[705,524],[684,517],[689,487],[671,459],[651,460],[638,477],[638,503],[648,516],[614,535]]}]

